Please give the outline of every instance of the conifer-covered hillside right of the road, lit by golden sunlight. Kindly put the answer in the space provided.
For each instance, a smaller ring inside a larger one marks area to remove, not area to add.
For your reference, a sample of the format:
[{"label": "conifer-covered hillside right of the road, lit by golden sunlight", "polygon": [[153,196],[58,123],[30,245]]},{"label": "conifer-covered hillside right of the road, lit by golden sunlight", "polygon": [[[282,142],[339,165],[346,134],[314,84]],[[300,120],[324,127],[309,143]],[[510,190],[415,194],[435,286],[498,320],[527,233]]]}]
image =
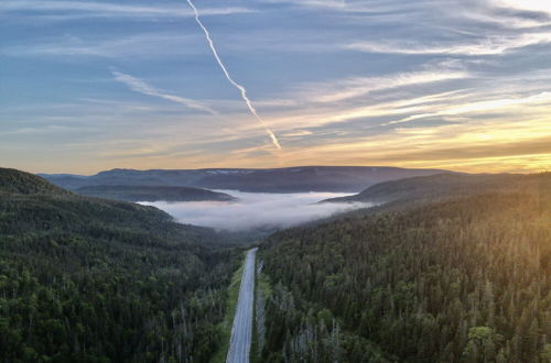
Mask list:
[{"label": "conifer-covered hillside right of the road, lit by golden sunlight", "polygon": [[526,180],[269,238],[263,360],[549,362],[551,174]]}]

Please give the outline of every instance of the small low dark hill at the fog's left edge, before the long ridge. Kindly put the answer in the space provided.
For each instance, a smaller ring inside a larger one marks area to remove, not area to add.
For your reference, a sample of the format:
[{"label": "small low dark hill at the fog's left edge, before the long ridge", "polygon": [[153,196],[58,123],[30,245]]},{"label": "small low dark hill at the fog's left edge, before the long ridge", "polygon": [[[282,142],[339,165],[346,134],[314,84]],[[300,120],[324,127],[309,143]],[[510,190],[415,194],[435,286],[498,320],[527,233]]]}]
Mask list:
[{"label": "small low dark hill at the fog's left edge, before the long ridge", "polygon": [[225,193],[202,188],[139,186],[139,185],[94,185],[75,190],[85,196],[126,201],[231,201],[236,198]]}]

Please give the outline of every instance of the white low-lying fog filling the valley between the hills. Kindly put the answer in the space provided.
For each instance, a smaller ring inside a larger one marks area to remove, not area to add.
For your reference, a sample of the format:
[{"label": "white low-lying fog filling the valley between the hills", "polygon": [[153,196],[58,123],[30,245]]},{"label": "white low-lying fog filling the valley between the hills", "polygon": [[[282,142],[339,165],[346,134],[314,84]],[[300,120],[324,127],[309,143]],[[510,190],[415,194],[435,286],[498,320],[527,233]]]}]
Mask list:
[{"label": "white low-lying fog filling the valley between the hills", "polygon": [[316,201],[343,197],[338,193],[242,193],[237,190],[216,190],[227,193],[238,201],[186,201],[186,202],[141,202],[160,208],[180,222],[212,227],[217,230],[248,231],[257,229],[288,228],[300,223],[370,207],[368,204],[321,204]]}]

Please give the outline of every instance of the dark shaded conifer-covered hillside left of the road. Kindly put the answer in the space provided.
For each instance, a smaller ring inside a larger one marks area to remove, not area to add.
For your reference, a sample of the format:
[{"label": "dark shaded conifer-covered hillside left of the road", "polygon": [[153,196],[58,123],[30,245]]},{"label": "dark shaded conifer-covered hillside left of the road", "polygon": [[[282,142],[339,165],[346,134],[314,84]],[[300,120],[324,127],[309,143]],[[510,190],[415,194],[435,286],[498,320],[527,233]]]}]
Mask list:
[{"label": "dark shaded conifer-covered hillside left of the road", "polygon": [[2,362],[208,361],[236,266],[217,234],[22,172],[0,180]]}]

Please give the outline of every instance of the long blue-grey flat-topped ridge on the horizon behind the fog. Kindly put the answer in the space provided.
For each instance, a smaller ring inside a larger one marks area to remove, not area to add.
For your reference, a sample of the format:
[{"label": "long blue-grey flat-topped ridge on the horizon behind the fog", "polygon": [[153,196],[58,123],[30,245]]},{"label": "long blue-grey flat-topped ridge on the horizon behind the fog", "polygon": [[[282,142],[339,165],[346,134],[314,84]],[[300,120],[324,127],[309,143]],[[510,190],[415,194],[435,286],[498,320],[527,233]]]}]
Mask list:
[{"label": "long blue-grey flat-topped ridge on the horizon behind the fog", "polygon": [[357,193],[387,180],[441,174],[440,169],[406,169],[371,166],[302,166],[285,168],[212,168],[212,169],[112,169],[93,176],[41,174],[64,188],[76,190],[96,185],[186,186],[241,191]]}]

